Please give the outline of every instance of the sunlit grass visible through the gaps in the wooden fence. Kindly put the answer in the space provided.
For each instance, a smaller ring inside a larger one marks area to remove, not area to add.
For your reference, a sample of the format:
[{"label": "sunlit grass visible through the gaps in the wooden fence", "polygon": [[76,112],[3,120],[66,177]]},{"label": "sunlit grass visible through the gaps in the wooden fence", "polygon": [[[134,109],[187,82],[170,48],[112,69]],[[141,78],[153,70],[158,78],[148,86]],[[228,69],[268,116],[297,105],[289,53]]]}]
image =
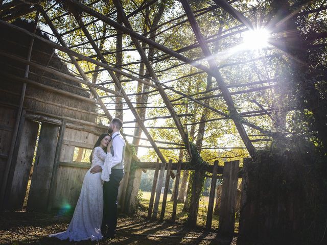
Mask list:
[{"label": "sunlit grass visible through the gaps in the wooden fence", "polygon": [[[149,207],[150,196],[151,196],[151,192],[143,191],[141,204],[147,209]],[[162,196],[163,194],[160,195],[157,218],[160,217],[160,212],[162,207]],[[168,194],[165,217],[164,217],[164,219],[166,220],[170,220],[173,213],[173,202],[169,201],[170,198],[171,198],[171,194]],[[205,227],[208,202],[209,202],[209,197],[201,197],[200,204],[199,204],[198,218],[197,218],[197,225],[200,227]],[[183,203],[177,204],[176,222],[184,223],[188,219],[188,213],[183,211],[183,207],[184,207]],[[212,220],[212,229],[218,229],[218,222],[219,222],[219,215],[214,214]],[[238,223],[236,225],[238,226]]]}]

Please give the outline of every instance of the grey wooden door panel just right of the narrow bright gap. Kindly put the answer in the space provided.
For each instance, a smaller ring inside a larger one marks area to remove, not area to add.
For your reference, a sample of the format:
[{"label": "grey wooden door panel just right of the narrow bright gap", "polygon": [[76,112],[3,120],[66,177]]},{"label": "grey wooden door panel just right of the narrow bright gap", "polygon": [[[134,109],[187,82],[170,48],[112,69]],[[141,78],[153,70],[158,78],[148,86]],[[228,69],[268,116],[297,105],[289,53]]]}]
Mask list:
[{"label": "grey wooden door panel just right of the narrow bright gap", "polygon": [[46,211],[56,155],[59,126],[42,122],[27,211]]}]

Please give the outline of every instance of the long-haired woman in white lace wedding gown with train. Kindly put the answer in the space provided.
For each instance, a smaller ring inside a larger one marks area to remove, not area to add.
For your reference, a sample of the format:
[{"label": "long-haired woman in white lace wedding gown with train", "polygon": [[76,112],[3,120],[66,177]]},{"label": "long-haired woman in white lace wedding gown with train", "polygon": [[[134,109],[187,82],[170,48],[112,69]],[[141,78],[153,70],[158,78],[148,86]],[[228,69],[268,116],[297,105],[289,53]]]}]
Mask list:
[{"label": "long-haired woman in white lace wedding gown with train", "polygon": [[[104,133],[100,135],[90,156],[90,161],[92,163],[91,168],[95,165],[103,166],[104,161],[107,162],[111,160],[111,154],[106,154],[107,151],[110,152],[111,144],[112,142],[109,134]],[[103,171],[96,174],[91,174],[90,169],[84,177],[80,197],[77,201],[74,215],[68,229],[63,232],[51,234],[49,235],[50,237],[56,237],[60,240],[69,238],[69,241],[98,241],[102,239],[102,179],[108,179],[111,169],[103,167]]]}]

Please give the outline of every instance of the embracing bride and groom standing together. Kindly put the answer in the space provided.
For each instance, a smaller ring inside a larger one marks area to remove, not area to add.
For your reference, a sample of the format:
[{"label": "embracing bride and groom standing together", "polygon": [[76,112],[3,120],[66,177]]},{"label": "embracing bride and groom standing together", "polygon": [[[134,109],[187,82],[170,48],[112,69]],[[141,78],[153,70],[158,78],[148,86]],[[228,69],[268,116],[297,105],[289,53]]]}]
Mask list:
[{"label": "embracing bride and groom standing together", "polygon": [[124,177],[125,140],[120,134],[123,122],[113,118],[108,133],[94,145],[73,218],[64,232],[50,235],[70,241],[113,238],[117,226],[119,183]]}]

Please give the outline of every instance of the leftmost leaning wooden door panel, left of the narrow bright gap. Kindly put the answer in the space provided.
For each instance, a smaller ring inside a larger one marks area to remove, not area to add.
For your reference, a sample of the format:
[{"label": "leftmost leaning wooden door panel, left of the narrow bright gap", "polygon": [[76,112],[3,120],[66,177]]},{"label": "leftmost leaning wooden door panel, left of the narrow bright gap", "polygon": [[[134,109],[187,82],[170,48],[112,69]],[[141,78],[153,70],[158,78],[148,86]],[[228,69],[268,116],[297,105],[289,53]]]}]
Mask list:
[{"label": "leftmost leaning wooden door panel, left of the narrow bright gap", "polygon": [[22,129],[14,176],[11,184],[8,208],[21,210],[24,204],[39,122],[26,119]]}]

